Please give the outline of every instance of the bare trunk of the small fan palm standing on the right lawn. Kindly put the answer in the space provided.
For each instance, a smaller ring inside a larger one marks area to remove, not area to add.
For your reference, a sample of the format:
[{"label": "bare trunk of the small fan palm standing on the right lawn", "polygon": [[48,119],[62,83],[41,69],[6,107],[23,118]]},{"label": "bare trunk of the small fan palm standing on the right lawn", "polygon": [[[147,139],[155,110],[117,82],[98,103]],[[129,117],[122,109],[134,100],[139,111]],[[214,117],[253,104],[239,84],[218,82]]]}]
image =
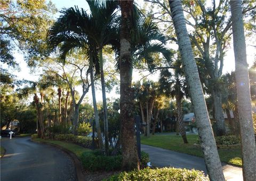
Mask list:
[{"label": "bare trunk of the small fan palm standing on the right lawn", "polygon": [[184,122],[182,119],[181,98],[179,96],[175,96],[175,98],[176,98],[176,102],[177,102],[177,122],[176,122],[176,124],[179,125],[179,131],[180,131],[180,135],[183,139],[183,142],[188,143],[185,126],[184,126]]}]

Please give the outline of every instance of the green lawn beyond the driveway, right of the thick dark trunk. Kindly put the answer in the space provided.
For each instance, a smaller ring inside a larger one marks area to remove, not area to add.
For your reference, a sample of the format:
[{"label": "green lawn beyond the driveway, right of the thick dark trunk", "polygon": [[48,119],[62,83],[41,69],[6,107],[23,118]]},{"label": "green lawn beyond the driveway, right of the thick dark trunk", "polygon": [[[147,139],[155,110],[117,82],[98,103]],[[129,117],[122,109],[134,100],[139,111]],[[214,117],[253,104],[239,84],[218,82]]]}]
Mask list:
[{"label": "green lawn beyond the driveway, right of the thick dark trunk", "polygon": [[[203,157],[201,149],[193,144],[197,142],[198,135],[187,135],[188,144],[184,144],[181,136],[175,135],[150,135],[141,136],[141,144],[161,147],[162,149],[177,151]],[[220,160],[238,167],[242,167],[242,153],[240,149],[219,149]]]}]

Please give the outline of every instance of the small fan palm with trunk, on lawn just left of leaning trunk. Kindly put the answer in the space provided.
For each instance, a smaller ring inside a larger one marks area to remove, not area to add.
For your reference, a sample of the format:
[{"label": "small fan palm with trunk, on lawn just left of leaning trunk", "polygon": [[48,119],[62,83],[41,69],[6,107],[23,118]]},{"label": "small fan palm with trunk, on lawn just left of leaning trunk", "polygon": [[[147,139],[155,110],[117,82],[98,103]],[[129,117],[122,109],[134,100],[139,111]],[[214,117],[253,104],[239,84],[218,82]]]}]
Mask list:
[{"label": "small fan palm with trunk, on lawn just left of leaning trunk", "polygon": [[163,87],[163,92],[166,96],[174,97],[177,103],[177,119],[179,123],[179,132],[182,136],[183,142],[188,143],[186,130],[183,122],[182,116],[182,98],[185,97],[186,84],[185,79],[182,77],[181,62],[177,60],[173,63],[174,74],[172,75],[168,69],[162,70],[160,74],[159,82],[161,87]]}]

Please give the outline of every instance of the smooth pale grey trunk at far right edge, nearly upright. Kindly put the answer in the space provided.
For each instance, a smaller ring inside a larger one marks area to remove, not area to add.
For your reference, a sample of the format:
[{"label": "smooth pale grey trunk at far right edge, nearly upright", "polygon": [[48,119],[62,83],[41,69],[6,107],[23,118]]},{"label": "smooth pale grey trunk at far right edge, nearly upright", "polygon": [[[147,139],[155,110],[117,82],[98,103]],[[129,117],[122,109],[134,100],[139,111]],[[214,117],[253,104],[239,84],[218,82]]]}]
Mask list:
[{"label": "smooth pale grey trunk at far right edge, nearly upright", "polygon": [[242,15],[242,1],[230,1],[239,125],[242,141],[243,178],[256,180],[256,145],[252,121],[249,72]]}]

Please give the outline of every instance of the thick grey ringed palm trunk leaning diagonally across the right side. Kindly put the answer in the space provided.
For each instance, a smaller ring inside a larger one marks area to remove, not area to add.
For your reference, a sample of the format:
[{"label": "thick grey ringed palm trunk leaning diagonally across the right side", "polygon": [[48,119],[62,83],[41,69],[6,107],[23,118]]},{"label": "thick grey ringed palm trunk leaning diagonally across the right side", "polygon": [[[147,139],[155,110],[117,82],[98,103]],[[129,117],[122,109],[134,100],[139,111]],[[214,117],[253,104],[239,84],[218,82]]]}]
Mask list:
[{"label": "thick grey ringed palm trunk leaning diagonally across the right side", "polygon": [[189,85],[189,95],[191,96],[191,101],[194,106],[196,124],[202,142],[201,147],[204,153],[206,169],[211,180],[225,180],[211,128],[209,114],[206,108],[197,65],[186,28],[182,4],[181,1],[169,1],[169,4],[175,32],[178,38],[181,60],[185,70],[186,80]]}]

